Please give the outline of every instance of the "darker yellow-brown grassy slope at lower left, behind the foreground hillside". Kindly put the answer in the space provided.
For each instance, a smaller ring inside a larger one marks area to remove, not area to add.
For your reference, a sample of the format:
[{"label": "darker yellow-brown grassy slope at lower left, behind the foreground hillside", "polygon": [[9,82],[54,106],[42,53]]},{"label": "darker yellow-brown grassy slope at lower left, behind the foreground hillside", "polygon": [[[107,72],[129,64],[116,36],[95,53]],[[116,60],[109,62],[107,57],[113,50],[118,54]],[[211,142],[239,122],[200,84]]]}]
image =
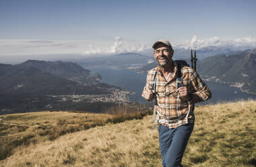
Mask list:
[{"label": "darker yellow-brown grassy slope at lower left, behind the foreground hillside", "polygon": [[53,141],[61,135],[106,123],[142,119],[146,113],[92,114],[78,112],[28,112],[3,115],[0,121],[0,160],[13,154],[20,145]]}]

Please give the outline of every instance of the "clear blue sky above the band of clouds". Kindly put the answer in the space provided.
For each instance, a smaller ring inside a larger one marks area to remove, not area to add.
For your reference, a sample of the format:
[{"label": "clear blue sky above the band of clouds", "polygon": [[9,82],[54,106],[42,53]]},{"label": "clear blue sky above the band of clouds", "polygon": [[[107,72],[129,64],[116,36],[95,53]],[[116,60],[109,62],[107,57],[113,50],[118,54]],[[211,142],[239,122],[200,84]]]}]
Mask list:
[{"label": "clear blue sky above the band of clouds", "polygon": [[[115,42],[117,36],[148,43],[160,38],[181,43],[195,36],[201,42],[248,37],[255,41],[255,9],[253,0],[0,0],[0,40],[94,41],[90,48]],[[4,49],[0,56],[11,52]]]}]

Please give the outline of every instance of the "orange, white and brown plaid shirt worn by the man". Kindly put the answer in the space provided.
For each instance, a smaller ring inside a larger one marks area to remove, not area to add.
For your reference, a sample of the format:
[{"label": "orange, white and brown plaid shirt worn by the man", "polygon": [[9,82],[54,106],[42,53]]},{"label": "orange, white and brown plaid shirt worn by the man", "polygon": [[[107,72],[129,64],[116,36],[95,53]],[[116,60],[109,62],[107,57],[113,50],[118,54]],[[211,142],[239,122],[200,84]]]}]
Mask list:
[{"label": "orange, white and brown plaid shirt worn by the man", "polygon": [[[146,86],[143,88],[142,95],[146,100],[153,100],[152,84],[154,75],[156,76],[156,102],[157,112],[160,116],[158,123],[175,128],[186,123],[193,123],[195,116],[193,112],[189,112],[189,104],[185,100],[181,100],[179,92],[177,92],[177,65],[174,64],[174,71],[170,74],[168,81],[164,78],[159,67],[155,67],[148,71]],[[201,80],[199,75],[191,67],[182,67],[183,86],[187,87],[189,93],[197,94],[199,101],[192,100],[193,103],[202,102],[211,98],[212,93],[206,84]],[[189,112],[189,116],[187,113]]]}]

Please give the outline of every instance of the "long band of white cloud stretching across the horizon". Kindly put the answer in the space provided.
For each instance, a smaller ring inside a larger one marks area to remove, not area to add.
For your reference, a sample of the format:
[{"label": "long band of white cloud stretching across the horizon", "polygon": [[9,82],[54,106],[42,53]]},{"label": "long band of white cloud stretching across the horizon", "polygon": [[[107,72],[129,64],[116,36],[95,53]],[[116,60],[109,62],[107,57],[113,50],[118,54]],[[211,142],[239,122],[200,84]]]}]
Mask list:
[{"label": "long band of white cloud stretching across the horizon", "polygon": [[[212,37],[199,39],[196,35],[182,43],[172,42],[175,48],[201,49],[208,46],[230,46],[255,48],[256,38],[246,37],[234,40]],[[86,41],[86,40],[8,40],[0,39],[0,57],[6,56],[33,56],[33,55],[55,55],[55,54],[116,54],[125,52],[141,52],[151,48],[152,42],[134,42],[119,36],[108,41]]]}]

